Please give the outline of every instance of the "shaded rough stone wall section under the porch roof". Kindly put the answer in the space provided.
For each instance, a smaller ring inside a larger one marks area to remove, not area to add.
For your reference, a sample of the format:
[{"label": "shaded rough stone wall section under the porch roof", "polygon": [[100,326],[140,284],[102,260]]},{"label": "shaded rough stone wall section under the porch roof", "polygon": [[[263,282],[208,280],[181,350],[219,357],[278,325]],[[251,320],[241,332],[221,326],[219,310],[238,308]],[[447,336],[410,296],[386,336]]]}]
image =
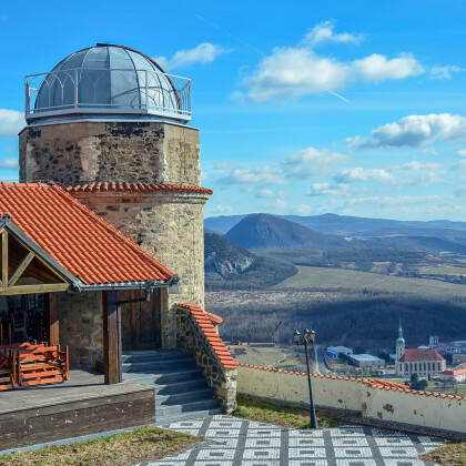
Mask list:
[{"label": "shaded rough stone wall section under the porch roof", "polygon": [[70,347],[71,368],[94,368],[103,358],[101,292],[59,293],[60,345]]}]

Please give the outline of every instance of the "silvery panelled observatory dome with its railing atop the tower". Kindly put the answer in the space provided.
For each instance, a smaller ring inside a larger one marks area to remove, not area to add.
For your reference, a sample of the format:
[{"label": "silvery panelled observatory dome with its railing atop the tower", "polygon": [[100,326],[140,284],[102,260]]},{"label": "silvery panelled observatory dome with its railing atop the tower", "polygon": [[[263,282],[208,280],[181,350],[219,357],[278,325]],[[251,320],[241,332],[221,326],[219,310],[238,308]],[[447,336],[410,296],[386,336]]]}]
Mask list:
[{"label": "silvery panelled observatory dome with its railing atop the tower", "polygon": [[[98,43],[27,77],[27,119],[112,115],[191,120],[191,81],[166,74],[143,53]],[[135,115],[135,116],[134,116]]]}]

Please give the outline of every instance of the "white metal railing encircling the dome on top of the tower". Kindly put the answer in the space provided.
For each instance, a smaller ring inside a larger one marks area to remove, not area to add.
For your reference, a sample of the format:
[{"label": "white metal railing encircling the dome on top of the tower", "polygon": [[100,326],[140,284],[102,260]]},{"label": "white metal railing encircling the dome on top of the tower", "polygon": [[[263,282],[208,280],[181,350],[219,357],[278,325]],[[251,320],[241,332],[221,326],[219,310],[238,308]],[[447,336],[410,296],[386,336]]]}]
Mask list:
[{"label": "white metal railing encircling the dome on top of the tower", "polygon": [[[99,81],[107,75],[110,81],[114,73],[120,73],[128,89],[123,85],[119,94],[110,95],[109,102],[99,102]],[[85,97],[80,95],[82,82],[85,82]],[[50,92],[43,95],[48,101],[39,100],[41,92]],[[114,103],[120,99],[122,102]],[[87,109],[90,113],[154,113],[190,120],[191,80],[153,70],[123,68],[72,68],[29,74],[24,78],[24,107],[31,119]]]}]

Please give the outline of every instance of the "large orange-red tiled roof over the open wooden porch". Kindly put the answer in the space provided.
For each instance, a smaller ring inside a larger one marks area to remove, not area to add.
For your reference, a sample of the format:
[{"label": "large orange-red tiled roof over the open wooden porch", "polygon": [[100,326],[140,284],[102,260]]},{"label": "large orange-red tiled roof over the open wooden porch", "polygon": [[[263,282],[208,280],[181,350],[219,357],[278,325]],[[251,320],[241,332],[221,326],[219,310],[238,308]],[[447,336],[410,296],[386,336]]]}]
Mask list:
[{"label": "large orange-red tiled roof over the open wooden porch", "polygon": [[168,281],[173,273],[61,188],[0,183],[0,216],[87,284]]}]

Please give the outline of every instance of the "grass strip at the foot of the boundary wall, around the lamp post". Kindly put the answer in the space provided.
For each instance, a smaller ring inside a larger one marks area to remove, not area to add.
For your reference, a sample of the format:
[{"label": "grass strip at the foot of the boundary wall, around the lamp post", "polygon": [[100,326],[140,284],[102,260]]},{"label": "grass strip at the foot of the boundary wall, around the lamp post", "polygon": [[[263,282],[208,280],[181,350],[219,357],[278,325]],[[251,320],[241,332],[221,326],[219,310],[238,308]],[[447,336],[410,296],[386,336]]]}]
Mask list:
[{"label": "grass strip at the foot of the boundary wall, around the lamp post", "polygon": [[[333,411],[317,408],[316,414],[320,428],[346,424],[345,419]],[[286,428],[310,428],[308,409],[245,395],[237,395],[234,415]]]}]

